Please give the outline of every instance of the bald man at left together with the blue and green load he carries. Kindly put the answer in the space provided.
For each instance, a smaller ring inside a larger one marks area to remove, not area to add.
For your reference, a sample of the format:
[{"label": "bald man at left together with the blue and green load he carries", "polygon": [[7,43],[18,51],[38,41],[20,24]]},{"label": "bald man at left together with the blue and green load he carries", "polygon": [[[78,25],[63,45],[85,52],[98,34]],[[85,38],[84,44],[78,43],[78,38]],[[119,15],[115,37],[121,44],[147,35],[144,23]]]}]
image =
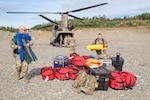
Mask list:
[{"label": "bald man at left together with the blue and green load he carries", "polygon": [[11,48],[14,50],[13,55],[16,61],[16,78],[20,80],[21,72],[24,75],[24,82],[29,83],[28,80],[28,64],[36,61],[37,58],[30,46],[33,45],[31,36],[26,33],[25,26],[19,27],[19,32],[12,38],[10,42]]}]

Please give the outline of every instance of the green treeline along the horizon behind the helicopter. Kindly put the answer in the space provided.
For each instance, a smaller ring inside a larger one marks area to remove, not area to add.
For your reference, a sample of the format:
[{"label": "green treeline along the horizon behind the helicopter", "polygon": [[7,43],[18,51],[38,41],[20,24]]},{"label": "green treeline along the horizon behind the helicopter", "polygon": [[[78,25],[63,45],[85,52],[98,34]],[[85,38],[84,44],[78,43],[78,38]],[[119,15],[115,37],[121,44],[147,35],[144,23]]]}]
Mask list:
[{"label": "green treeline along the horizon behind the helicopter", "polygon": [[[123,18],[109,19],[105,15],[94,16],[92,18],[83,17],[83,20],[69,19],[68,24],[73,25],[75,29],[83,28],[116,28],[116,27],[137,27],[150,26],[150,13],[143,13],[134,17],[124,16]],[[56,21],[60,23],[60,21]],[[52,30],[53,23],[42,23],[32,27],[32,30]],[[15,32],[13,27],[0,26],[0,30]]]}]

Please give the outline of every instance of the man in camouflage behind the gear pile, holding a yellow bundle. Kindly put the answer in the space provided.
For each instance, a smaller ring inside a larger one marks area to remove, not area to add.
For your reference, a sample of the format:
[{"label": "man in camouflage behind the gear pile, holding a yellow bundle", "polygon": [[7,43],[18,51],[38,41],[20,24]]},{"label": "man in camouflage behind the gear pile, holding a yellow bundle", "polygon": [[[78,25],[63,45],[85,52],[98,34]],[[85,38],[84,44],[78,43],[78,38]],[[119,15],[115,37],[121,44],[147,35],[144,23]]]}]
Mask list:
[{"label": "man in camouflage behind the gear pile, holding a yellow bundle", "polygon": [[[104,48],[107,48],[107,41],[105,39],[103,39],[102,37],[102,33],[98,34],[98,38],[95,39],[93,44],[102,44]],[[96,50],[96,54],[97,54],[97,58],[100,58],[100,54],[105,54],[106,53],[106,49],[103,50]]]}]

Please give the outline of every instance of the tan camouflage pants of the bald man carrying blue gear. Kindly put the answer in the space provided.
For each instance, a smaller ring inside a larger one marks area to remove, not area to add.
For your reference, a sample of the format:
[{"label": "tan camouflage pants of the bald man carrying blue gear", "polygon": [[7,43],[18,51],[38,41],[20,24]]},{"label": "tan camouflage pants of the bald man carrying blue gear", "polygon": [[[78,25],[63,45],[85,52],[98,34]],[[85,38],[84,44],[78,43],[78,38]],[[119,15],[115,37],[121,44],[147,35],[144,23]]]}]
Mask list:
[{"label": "tan camouflage pants of the bald man carrying blue gear", "polygon": [[26,75],[26,73],[28,72],[27,62],[25,60],[21,61],[18,54],[14,54],[14,57],[15,57],[15,64],[16,64],[17,73],[22,72],[23,75]]}]

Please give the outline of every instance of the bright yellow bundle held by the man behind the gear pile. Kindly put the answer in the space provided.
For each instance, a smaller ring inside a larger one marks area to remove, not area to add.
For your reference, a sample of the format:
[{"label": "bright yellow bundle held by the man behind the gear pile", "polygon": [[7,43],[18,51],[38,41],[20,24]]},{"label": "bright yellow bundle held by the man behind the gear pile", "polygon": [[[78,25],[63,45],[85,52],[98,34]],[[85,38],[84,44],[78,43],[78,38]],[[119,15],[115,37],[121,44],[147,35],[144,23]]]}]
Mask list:
[{"label": "bright yellow bundle held by the man behind the gear pile", "polygon": [[102,44],[89,44],[86,47],[88,50],[106,50]]}]

